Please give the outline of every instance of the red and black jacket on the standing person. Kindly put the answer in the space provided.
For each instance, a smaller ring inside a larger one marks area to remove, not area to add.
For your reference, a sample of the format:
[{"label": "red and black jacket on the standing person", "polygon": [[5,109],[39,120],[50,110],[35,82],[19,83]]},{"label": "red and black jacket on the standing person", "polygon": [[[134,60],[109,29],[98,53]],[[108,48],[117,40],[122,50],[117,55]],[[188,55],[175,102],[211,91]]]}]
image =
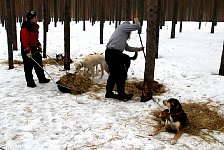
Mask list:
[{"label": "red and black jacket on the standing person", "polygon": [[24,51],[30,52],[31,49],[33,48],[36,49],[38,46],[41,45],[38,40],[39,37],[38,29],[39,29],[38,24],[33,24],[27,21],[23,22],[20,36],[21,36],[22,49]]}]

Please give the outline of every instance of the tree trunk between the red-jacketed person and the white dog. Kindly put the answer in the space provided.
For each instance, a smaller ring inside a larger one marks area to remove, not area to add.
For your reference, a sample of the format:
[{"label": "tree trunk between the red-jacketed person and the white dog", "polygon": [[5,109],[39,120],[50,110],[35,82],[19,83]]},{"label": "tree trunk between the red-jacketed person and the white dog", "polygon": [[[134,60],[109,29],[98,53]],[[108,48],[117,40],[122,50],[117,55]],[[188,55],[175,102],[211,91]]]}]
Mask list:
[{"label": "tree trunk between the red-jacketed person and the white dog", "polygon": [[64,23],[64,69],[70,70],[70,22],[71,22],[71,0],[65,0],[65,23]]}]

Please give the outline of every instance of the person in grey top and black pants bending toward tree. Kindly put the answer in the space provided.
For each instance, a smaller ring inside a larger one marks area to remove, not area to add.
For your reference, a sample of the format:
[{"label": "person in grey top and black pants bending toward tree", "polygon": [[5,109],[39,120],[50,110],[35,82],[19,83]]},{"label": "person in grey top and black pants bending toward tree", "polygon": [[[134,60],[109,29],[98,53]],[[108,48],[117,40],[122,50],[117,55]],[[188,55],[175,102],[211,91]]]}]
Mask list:
[{"label": "person in grey top and black pants bending toward tree", "polygon": [[[115,98],[127,101],[133,97],[133,94],[125,93],[127,70],[125,69],[125,54],[123,51],[138,52],[144,49],[143,47],[130,47],[127,44],[131,31],[139,29],[140,23],[138,18],[134,18],[134,24],[130,24],[130,22],[125,21],[116,28],[106,45],[105,60],[110,72],[106,85],[106,98]],[[114,94],[113,92],[115,85],[117,87],[118,94]]]}]

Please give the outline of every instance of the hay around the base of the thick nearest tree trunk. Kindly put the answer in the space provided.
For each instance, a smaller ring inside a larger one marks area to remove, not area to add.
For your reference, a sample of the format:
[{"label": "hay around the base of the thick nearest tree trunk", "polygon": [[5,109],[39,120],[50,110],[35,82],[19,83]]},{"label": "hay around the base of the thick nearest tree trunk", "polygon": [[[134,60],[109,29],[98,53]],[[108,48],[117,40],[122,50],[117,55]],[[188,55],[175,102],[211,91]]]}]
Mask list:
[{"label": "hay around the base of the thick nearest tree trunk", "polygon": [[[126,91],[127,93],[133,93],[136,96],[141,97],[143,90],[143,81],[138,82],[127,82],[126,83]],[[157,81],[153,81],[153,95],[161,95],[166,92],[166,87],[163,84],[160,84]]]}]

